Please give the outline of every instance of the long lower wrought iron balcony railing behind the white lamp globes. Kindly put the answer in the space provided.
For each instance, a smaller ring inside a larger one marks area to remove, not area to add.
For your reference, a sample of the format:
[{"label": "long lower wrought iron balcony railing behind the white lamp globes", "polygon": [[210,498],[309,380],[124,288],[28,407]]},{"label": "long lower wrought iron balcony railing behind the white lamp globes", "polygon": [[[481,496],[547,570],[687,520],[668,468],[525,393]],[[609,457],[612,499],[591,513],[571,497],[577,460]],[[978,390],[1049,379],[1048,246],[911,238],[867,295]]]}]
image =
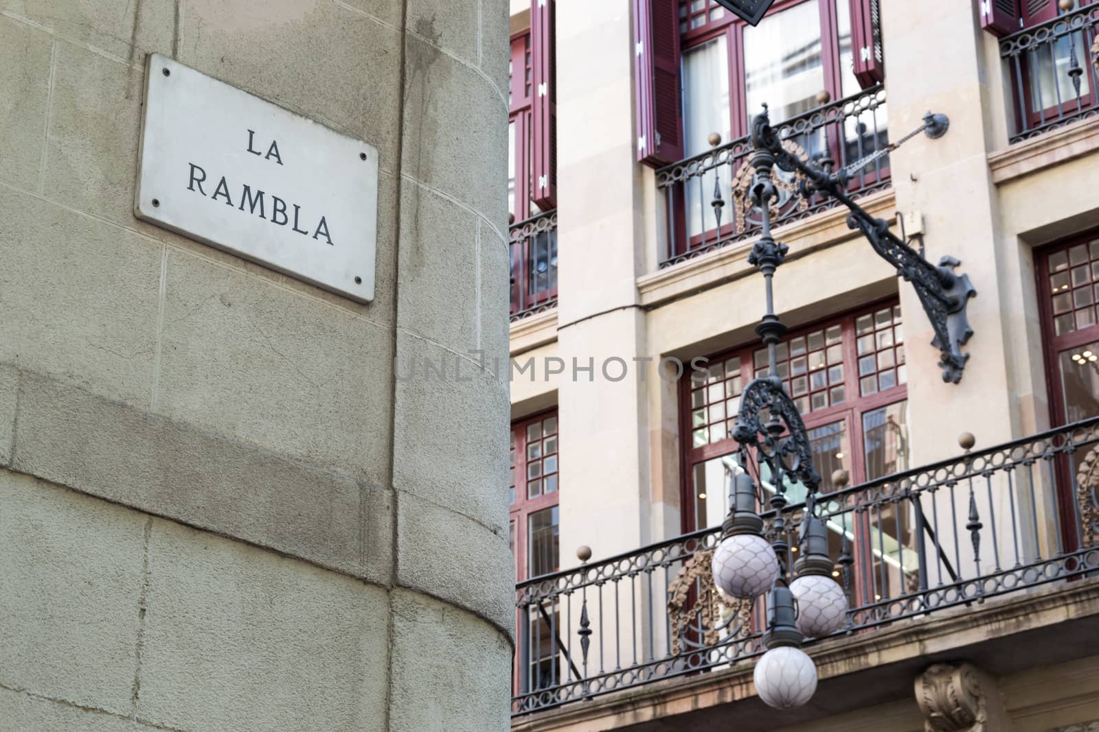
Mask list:
[{"label": "long lower wrought iron balcony railing behind the white lamp globes", "polygon": [[[826,494],[851,608],[836,635],[1099,570],[1097,487],[1099,417]],[[801,506],[786,510],[796,545]],[[709,528],[517,585],[512,713],[763,653],[764,599],[713,586],[719,539]]]}]

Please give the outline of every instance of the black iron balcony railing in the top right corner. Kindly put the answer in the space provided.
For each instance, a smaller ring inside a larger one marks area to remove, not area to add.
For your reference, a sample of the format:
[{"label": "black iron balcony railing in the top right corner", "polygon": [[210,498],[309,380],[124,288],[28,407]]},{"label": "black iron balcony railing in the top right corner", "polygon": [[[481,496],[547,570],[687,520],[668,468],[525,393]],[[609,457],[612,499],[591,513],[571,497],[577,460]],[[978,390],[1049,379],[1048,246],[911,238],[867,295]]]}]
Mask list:
[{"label": "black iron balcony railing in the top right corner", "polygon": [[1012,143],[1099,114],[1097,25],[1099,4],[1089,4],[1000,40]]}]

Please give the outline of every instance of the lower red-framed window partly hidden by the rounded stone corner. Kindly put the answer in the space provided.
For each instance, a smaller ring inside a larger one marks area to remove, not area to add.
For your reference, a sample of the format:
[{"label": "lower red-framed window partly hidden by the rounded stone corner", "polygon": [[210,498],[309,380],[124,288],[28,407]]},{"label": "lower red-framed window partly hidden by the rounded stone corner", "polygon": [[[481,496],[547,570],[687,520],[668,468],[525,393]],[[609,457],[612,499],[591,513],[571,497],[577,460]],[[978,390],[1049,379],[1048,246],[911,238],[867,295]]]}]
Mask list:
[{"label": "lower red-framed window partly hidden by the rounded stone corner", "polygon": [[[511,426],[509,536],[517,582],[560,567],[557,447],[556,412]],[[551,686],[559,678],[560,657],[554,647],[559,620],[556,604],[517,612],[519,692]]]}]

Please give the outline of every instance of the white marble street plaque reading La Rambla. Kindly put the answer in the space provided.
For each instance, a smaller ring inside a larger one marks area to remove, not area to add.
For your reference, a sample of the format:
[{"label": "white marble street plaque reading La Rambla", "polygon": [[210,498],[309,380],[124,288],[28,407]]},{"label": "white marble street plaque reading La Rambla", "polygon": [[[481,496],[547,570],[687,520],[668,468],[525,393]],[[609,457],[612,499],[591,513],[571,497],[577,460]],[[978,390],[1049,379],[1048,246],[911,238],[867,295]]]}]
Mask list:
[{"label": "white marble street plaque reading La Rambla", "polygon": [[158,54],[146,60],[134,213],[374,300],[378,150]]}]

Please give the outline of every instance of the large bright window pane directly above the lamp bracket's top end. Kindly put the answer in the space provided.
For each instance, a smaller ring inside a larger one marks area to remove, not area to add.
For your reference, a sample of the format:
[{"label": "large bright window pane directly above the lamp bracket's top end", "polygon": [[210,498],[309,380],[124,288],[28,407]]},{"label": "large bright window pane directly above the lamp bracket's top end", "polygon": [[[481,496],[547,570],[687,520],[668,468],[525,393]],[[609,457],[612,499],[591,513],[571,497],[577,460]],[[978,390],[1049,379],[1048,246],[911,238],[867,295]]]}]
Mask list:
[{"label": "large bright window pane directly above the lamp bracket's top end", "polygon": [[780,122],[817,106],[824,90],[820,0],[809,0],[744,29],[745,92],[750,114],[766,103]]}]

